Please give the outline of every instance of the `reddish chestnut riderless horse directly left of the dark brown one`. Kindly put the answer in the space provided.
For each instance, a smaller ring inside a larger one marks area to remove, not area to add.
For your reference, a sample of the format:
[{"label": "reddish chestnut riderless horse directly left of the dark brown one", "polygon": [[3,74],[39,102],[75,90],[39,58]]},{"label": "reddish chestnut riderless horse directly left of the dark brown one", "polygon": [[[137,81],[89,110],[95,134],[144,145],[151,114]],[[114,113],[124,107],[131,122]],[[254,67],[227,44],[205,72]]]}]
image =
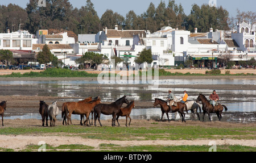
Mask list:
[{"label": "reddish chestnut riderless horse directly left of the dark brown one", "polygon": [[[68,119],[68,124],[71,122],[71,115],[72,114],[80,114],[86,116],[86,124],[88,126],[88,119],[90,112],[96,106],[97,104],[101,103],[101,99],[97,98],[90,102],[70,102],[67,105],[65,105],[65,116]],[[67,115],[68,112],[68,115]],[[72,122],[71,122],[72,124]]]}]

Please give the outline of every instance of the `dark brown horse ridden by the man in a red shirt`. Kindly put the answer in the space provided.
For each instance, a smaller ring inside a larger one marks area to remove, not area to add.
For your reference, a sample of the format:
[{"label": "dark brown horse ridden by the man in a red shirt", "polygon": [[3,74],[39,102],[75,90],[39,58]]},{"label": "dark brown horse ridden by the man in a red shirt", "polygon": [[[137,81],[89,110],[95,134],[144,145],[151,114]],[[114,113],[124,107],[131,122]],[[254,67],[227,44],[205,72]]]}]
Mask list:
[{"label": "dark brown horse ridden by the man in a red shirt", "polygon": [[[222,116],[222,111],[224,110],[225,108],[225,111],[228,110],[228,108],[225,106],[225,105],[221,105],[220,103],[218,103],[217,106],[212,106],[210,104],[210,102],[208,101],[208,99],[205,97],[205,95],[203,94],[199,94],[199,96],[197,97],[196,99],[196,102],[199,102],[201,101],[202,102],[202,109],[203,109],[203,122],[204,122],[204,116],[205,116],[205,113],[207,112],[208,116],[209,116],[209,120],[210,120],[210,113],[213,113],[215,112],[218,116],[218,120],[221,120]],[[210,120],[211,121],[211,120]]]}]

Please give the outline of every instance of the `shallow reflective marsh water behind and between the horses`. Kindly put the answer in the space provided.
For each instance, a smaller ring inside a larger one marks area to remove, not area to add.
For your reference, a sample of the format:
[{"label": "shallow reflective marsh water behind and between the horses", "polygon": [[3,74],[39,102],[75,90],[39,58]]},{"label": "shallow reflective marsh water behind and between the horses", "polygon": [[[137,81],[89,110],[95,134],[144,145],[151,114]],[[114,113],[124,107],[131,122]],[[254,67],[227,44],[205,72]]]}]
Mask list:
[{"label": "shallow reflective marsh water behind and between the horses", "polygon": [[[96,84],[88,88],[88,84]],[[148,101],[154,102],[154,98],[166,99],[167,88],[150,89],[148,86],[123,86],[120,87],[105,87],[102,85],[97,86],[97,80],[76,80],[76,81],[0,81],[0,88],[5,92],[5,95],[42,95],[53,97],[70,97],[67,101],[79,101],[84,97],[100,95],[102,102],[115,101],[126,94],[129,99],[135,101]],[[159,80],[159,85],[255,85],[256,80]],[[24,91],[26,90],[26,91]],[[181,97],[183,90],[181,88],[174,88],[175,95]],[[209,94],[212,92],[210,89],[186,89],[189,92],[188,101],[195,100],[200,93]],[[228,119],[226,121],[255,122],[253,112],[256,112],[255,94],[256,90],[216,90],[221,97],[221,103],[228,107]],[[234,96],[237,95],[237,96]],[[230,98],[231,97],[231,98]],[[80,98],[80,99],[77,99]],[[35,108],[38,110],[38,108]],[[246,113],[246,115],[235,114],[236,112]],[[160,119],[162,112],[160,108],[140,108],[131,111],[132,119]],[[174,118],[173,114],[170,114]],[[216,114],[212,114],[213,118]],[[223,114],[225,117],[225,112]],[[249,117],[249,118],[247,118]],[[252,117],[252,118],[250,118]],[[6,119],[41,119],[40,114],[25,114],[19,116],[8,116],[5,114]],[[164,115],[166,118],[166,115]],[[190,118],[187,115],[186,118]],[[197,117],[196,117],[197,118]],[[57,116],[61,119],[61,115]],[[72,119],[80,119],[80,115],[72,115]],[[101,119],[112,119],[112,116],[101,115]],[[125,119],[125,118],[120,118]],[[206,118],[208,119],[208,118]]]}]

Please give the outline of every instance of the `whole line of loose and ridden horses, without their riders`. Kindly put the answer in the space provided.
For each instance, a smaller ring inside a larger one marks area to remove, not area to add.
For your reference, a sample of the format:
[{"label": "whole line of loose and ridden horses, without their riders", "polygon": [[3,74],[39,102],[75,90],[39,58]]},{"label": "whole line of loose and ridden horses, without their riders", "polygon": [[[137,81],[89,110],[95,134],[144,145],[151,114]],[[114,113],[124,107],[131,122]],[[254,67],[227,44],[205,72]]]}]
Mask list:
[{"label": "whole line of loose and ridden horses, without their riders", "polygon": [[[196,114],[198,119],[200,120],[200,115],[197,112],[199,109],[201,112],[201,107],[199,105],[199,102],[201,101],[203,107],[203,121],[204,116],[207,113],[210,120],[210,113],[216,113],[218,116],[218,119],[221,120],[222,118],[222,111],[225,108],[225,111],[228,110],[228,108],[225,105],[221,105],[218,103],[217,106],[210,105],[210,102],[208,99],[203,95],[199,94],[196,101],[189,101],[186,103],[177,102],[177,106],[171,106],[169,107],[167,105],[167,101],[164,101],[163,99],[155,98],[154,107],[160,105],[162,116],[161,119],[163,119],[164,113],[166,113],[168,122],[170,122],[168,112],[178,112],[181,118],[182,122],[185,121],[185,112],[188,113],[190,110],[193,114]],[[6,103],[7,101],[2,101],[0,103],[0,115],[2,115],[2,126],[3,126],[3,113],[6,110]],[[126,103],[126,107],[122,107],[123,103]],[[102,126],[100,121],[101,114],[104,115],[112,115],[112,126],[115,126],[115,120],[117,120],[118,126],[118,118],[119,116],[126,116],[126,127],[127,127],[127,118],[130,119],[129,126],[131,123],[131,117],[130,113],[131,110],[135,107],[134,101],[129,102],[126,98],[126,95],[124,95],[122,98],[119,98],[117,101],[105,104],[101,103],[100,97],[89,97],[79,102],[64,102],[61,107],[61,117],[63,118],[63,125],[64,124],[72,124],[71,121],[71,115],[72,114],[79,114],[80,115],[80,124],[90,126],[93,124],[93,115],[94,115],[94,126],[96,126],[96,120],[98,119],[98,122],[100,123],[100,126]],[[185,111],[185,112],[184,112]],[[44,126],[44,121],[46,121],[46,126],[48,126],[48,117],[50,118],[50,126],[55,126],[56,122],[56,116],[59,114],[59,108],[57,107],[57,102],[53,101],[51,105],[47,105],[44,101],[40,101],[40,107],[39,112],[42,116],[42,126]],[[92,114],[92,123],[90,123],[89,115]],[[84,115],[86,117],[86,120],[84,120]],[[67,119],[67,120],[66,120]],[[68,122],[67,122],[68,121]],[[89,124],[88,124],[89,122]]]}]

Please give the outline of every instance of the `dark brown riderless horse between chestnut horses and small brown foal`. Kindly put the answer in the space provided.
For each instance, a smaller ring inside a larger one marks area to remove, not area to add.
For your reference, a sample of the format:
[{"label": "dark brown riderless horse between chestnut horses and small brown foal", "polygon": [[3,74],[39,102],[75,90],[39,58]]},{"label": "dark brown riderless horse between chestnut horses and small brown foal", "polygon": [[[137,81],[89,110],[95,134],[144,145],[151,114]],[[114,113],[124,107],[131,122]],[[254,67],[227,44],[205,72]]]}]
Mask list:
[{"label": "dark brown riderless horse between chestnut horses and small brown foal", "polygon": [[117,101],[105,104],[105,103],[99,103],[94,107],[94,126],[96,126],[96,120],[98,119],[98,122],[101,124],[100,116],[101,114],[105,115],[112,115],[112,126],[115,126],[115,118],[120,111],[120,107],[123,105],[123,103],[128,104],[129,101],[126,98],[126,95],[124,95],[122,98],[119,98]]}]

